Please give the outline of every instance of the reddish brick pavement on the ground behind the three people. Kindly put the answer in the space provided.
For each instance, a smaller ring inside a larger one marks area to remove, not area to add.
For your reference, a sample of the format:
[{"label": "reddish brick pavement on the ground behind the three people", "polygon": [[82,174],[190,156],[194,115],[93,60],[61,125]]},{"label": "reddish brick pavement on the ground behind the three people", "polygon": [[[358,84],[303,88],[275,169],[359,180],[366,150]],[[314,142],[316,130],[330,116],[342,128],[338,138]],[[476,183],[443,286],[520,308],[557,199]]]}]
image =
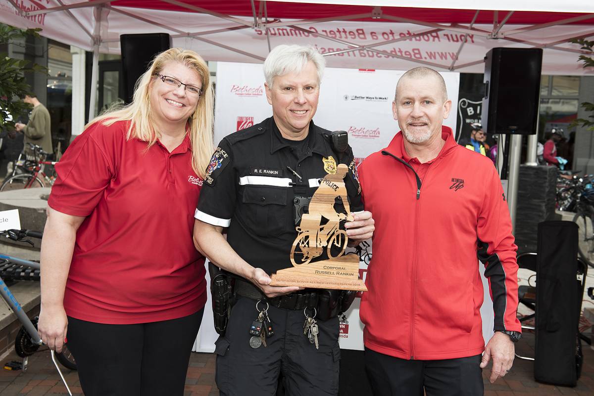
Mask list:
[{"label": "reddish brick pavement on the ground behind the three people", "polygon": [[[534,336],[527,333],[517,345],[520,355],[534,356]],[[534,381],[532,362],[516,359],[513,370],[505,378],[489,384],[489,369],[485,369],[485,396],[549,396],[549,395],[594,395],[594,350],[585,343],[584,367],[582,377],[574,388],[555,387]],[[1,363],[16,360],[12,353]],[[82,396],[80,383],[75,371],[63,369],[72,393]],[[0,369],[0,396],[43,396],[67,394],[58,373],[53,368],[48,352],[41,352],[29,358],[27,372]],[[214,384],[214,355],[211,353],[192,353],[188,368],[184,396],[216,396],[219,391]],[[249,396],[249,395],[246,395]]]}]

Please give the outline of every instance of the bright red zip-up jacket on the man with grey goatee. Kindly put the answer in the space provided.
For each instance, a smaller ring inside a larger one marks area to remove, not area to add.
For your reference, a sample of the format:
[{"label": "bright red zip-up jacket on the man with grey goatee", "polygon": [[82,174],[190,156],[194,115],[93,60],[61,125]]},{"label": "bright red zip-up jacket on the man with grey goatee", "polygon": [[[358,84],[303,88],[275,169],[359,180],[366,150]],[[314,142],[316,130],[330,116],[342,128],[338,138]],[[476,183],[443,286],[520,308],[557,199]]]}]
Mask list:
[{"label": "bright red zip-up jacket on the man with grey goatee", "polygon": [[[485,265],[494,330],[521,331],[511,220],[493,162],[445,145],[418,174],[402,132],[359,167],[373,213],[373,256],[361,300],[365,346],[400,359],[438,360],[484,350],[479,260]],[[421,165],[423,166],[423,165]]]}]

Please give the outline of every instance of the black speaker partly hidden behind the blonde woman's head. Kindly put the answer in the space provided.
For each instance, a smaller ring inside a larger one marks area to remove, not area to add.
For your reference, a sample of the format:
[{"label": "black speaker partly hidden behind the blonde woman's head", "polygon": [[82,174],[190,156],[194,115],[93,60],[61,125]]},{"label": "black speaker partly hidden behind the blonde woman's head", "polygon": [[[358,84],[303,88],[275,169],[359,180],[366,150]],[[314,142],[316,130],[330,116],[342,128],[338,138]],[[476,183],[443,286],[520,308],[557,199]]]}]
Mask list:
[{"label": "black speaker partly hidden behind the blonde woman's head", "polygon": [[119,36],[122,50],[122,82],[125,102],[132,102],[134,84],[147,71],[154,57],[170,49],[171,39],[167,33],[122,34]]}]

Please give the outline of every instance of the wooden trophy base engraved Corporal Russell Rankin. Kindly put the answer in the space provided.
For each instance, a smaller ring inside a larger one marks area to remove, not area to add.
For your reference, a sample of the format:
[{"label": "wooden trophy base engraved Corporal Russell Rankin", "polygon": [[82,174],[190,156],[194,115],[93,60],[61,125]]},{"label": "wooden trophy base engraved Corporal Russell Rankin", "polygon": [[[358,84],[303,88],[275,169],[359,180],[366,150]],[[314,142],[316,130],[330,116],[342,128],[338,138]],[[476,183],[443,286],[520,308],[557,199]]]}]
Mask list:
[{"label": "wooden trophy base engraved Corporal Russell Rankin", "polygon": [[359,277],[359,257],[347,254],[334,260],[302,264],[279,270],[272,275],[270,286],[299,286],[301,288],[358,290],[366,292]]}]

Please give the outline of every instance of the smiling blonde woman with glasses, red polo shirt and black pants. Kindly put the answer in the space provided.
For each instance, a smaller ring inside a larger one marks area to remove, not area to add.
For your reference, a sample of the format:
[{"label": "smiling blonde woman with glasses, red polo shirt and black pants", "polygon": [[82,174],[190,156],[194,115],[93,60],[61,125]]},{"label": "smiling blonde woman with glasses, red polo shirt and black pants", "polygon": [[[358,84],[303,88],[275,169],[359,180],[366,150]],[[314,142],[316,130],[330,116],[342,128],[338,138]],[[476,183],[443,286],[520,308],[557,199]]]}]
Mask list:
[{"label": "smiling blonde woman with glasses, red polo shirt and black pants", "polygon": [[84,394],[182,395],[206,303],[194,207],[212,147],[197,53],[160,53],[134,101],[91,121],[49,197],[39,334],[68,347]]}]

